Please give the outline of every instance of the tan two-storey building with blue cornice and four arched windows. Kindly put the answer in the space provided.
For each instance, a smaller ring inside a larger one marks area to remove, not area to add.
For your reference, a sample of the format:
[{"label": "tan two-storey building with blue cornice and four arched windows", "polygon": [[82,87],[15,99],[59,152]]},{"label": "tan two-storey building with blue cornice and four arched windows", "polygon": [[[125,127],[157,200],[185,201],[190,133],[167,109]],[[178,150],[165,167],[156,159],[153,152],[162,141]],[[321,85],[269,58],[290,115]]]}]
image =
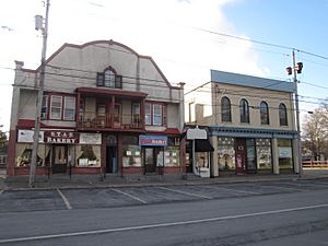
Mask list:
[{"label": "tan two-storey building with blue cornice and four arched windows", "polygon": [[206,127],[211,176],[298,173],[295,84],[211,70],[211,82],[186,93],[185,120]]}]

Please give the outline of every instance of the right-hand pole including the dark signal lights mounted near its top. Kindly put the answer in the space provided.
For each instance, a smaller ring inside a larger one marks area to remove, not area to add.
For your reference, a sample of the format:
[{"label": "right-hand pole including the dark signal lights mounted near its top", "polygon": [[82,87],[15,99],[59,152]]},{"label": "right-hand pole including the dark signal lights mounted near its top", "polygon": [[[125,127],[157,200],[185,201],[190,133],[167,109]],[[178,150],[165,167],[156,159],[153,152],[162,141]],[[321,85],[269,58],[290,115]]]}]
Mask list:
[{"label": "right-hand pole including the dark signal lights mounted near its top", "polygon": [[302,167],[302,143],[301,143],[301,127],[300,127],[300,108],[298,108],[298,92],[297,92],[297,73],[302,73],[303,63],[295,61],[295,50],[292,51],[293,57],[293,68],[288,67],[286,72],[289,75],[294,73],[293,82],[295,83],[295,110],[296,110],[296,131],[297,131],[297,163],[298,163],[298,177],[302,177],[303,167]]}]

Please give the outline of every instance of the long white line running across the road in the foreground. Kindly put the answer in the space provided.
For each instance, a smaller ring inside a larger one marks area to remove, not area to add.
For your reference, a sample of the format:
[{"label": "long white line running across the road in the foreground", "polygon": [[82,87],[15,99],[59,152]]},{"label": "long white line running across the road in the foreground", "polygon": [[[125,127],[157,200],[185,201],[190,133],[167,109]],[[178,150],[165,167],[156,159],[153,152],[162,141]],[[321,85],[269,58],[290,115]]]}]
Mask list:
[{"label": "long white line running across the road in the foreground", "polygon": [[290,208],[290,209],[269,210],[269,211],[245,213],[245,214],[237,214],[237,215],[190,220],[190,221],[167,222],[161,224],[145,224],[145,225],[136,225],[136,226],[117,227],[117,229],[103,229],[103,230],[82,231],[82,232],[73,232],[73,233],[48,234],[42,236],[16,237],[16,238],[0,239],[0,244],[30,242],[30,241],[39,241],[39,239],[52,239],[52,238],[62,238],[62,237],[71,237],[71,236],[85,236],[85,235],[95,235],[95,234],[104,234],[104,233],[128,232],[128,231],[145,230],[145,229],[172,227],[177,225],[200,224],[200,223],[208,223],[208,222],[218,222],[218,221],[288,213],[288,212],[321,209],[321,208],[328,208],[328,203],[297,207],[297,208]]}]

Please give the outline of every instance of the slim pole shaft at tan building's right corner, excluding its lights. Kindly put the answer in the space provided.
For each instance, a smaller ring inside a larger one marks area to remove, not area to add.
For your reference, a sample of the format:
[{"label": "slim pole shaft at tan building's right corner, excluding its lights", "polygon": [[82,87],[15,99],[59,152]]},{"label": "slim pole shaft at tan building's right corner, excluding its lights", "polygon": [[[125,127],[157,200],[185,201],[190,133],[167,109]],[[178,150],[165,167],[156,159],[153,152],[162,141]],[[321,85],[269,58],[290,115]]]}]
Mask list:
[{"label": "slim pole shaft at tan building's right corner, excluding its lights", "polygon": [[295,61],[295,50],[293,49],[293,72],[294,72],[294,83],[295,83],[295,109],[296,109],[296,130],[297,130],[297,162],[298,162],[298,177],[302,177],[302,143],[301,143],[301,127],[300,127],[300,109],[298,109],[298,93],[297,93],[297,75],[296,75],[296,61]]}]

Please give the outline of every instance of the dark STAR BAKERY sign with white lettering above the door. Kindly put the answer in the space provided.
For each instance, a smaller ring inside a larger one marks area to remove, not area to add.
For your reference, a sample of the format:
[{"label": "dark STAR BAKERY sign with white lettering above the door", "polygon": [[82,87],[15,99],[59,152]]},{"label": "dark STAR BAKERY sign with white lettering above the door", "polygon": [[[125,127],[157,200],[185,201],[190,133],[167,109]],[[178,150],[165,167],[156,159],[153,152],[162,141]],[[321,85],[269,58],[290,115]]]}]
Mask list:
[{"label": "dark STAR BAKERY sign with white lettering above the door", "polygon": [[70,131],[45,131],[46,143],[74,144],[79,143],[79,133]]}]

